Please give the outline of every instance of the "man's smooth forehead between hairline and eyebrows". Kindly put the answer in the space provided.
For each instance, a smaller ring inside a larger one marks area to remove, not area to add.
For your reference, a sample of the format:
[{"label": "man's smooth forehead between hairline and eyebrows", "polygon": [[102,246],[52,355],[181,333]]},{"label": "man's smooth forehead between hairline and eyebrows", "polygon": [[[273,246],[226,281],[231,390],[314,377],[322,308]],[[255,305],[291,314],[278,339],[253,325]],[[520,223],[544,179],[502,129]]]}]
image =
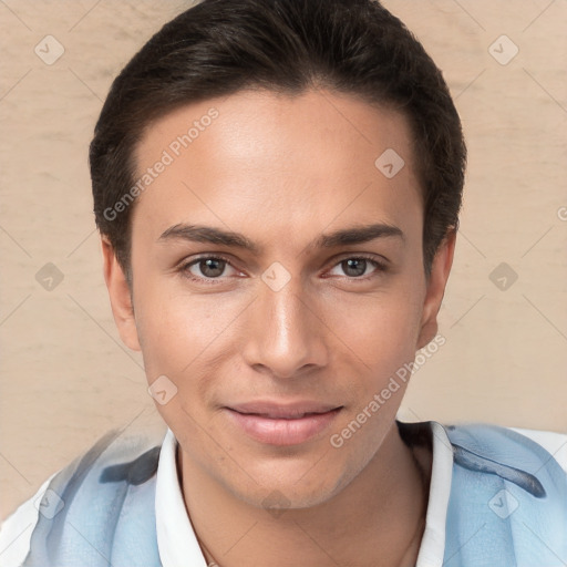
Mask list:
[{"label": "man's smooth forehead between hairline and eyebrows", "polygon": [[338,217],[393,224],[421,205],[405,117],[328,91],[182,106],[146,128],[135,157],[152,178],[134,217],[156,231],[198,217],[281,236]]}]

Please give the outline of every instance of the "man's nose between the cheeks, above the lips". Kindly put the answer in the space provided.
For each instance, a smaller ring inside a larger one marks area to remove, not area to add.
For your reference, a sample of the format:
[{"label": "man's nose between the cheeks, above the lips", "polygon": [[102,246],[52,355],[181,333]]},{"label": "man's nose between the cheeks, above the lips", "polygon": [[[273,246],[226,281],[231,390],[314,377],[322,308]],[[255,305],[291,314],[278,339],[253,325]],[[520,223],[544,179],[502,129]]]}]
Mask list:
[{"label": "man's nose between the cheeks, above the lips", "polygon": [[323,368],[329,350],[320,301],[305,289],[298,276],[281,289],[264,281],[258,288],[247,310],[245,361],[278,379],[299,378]]}]

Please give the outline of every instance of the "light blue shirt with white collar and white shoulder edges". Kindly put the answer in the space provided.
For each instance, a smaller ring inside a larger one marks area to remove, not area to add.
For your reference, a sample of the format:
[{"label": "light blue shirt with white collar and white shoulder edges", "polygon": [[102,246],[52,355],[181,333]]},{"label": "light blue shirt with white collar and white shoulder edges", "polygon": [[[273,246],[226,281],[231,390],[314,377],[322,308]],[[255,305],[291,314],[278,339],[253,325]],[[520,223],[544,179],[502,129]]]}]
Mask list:
[{"label": "light blue shirt with white collar and white shoulder edges", "polygon": [[[567,565],[567,435],[480,423],[398,426],[406,442],[425,434],[433,447],[416,567]],[[157,444],[111,432],[8,518],[0,565],[206,567],[176,449],[169,430]]]}]

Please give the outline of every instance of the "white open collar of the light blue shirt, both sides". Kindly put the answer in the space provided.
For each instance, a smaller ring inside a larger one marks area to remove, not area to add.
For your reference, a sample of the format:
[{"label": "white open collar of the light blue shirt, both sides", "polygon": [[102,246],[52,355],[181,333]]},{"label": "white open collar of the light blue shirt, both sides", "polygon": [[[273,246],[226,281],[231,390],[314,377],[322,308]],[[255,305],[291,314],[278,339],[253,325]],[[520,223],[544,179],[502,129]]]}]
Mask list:
[{"label": "white open collar of the light blue shirt, both sides", "polygon": [[[441,567],[445,550],[445,522],[453,474],[453,451],[443,425],[435,421],[425,423],[432,433],[433,464],[425,530],[416,567]],[[163,567],[207,567],[185,508],[177,476],[176,451],[177,440],[172,430],[167,429],[159,453],[155,492],[159,558]]]}]

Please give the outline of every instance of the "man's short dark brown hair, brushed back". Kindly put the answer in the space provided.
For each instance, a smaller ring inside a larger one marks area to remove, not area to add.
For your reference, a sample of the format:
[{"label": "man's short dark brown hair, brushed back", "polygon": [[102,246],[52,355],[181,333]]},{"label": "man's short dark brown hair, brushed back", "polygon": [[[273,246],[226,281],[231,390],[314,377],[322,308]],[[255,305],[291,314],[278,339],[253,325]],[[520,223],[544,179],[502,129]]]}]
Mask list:
[{"label": "man's short dark brown hair, brushed back", "polygon": [[299,94],[313,85],[409,118],[430,274],[440,244],[458,226],[466,147],[441,71],[375,0],[203,0],[134,55],[112,84],[89,155],[96,226],[126,274],[133,207],[112,218],[105,212],[134,183],[144,128],[177,106],[243,89]]}]

